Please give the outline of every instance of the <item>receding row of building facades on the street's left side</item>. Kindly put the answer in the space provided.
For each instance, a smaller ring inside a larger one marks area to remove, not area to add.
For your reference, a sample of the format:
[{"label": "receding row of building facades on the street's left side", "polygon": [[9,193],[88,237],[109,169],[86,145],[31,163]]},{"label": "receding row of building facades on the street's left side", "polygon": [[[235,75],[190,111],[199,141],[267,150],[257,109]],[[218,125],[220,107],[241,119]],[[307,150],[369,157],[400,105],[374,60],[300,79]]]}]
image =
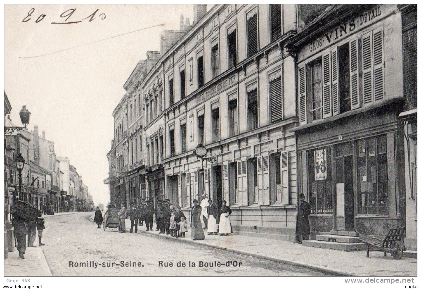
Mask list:
[{"label": "receding row of building facades on the street's left side", "polygon": [[[8,116],[11,107],[6,94],[4,99],[5,126],[16,127]],[[6,110],[6,107],[10,108]],[[67,157],[56,155],[54,142],[45,138],[45,131],[40,135],[37,125],[33,131],[21,129],[6,135],[4,142],[5,204],[13,205],[13,197],[16,196],[37,206],[44,214],[88,211],[93,208],[92,196],[88,186],[83,183],[82,176]],[[25,160],[21,192],[15,162],[18,154]]]}]

